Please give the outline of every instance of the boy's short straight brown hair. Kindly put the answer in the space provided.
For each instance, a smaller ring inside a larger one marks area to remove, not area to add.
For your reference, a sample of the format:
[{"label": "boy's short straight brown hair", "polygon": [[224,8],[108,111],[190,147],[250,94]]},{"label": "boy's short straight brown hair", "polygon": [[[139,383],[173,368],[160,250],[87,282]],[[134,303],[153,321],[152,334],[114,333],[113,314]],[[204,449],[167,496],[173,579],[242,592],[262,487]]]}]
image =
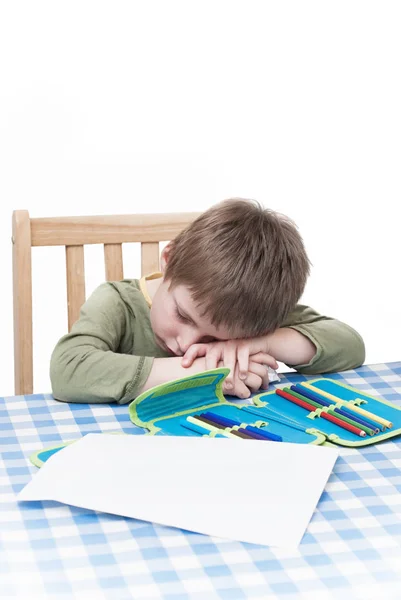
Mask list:
[{"label": "boy's short straight brown hair", "polygon": [[232,337],[274,331],[294,308],[309,275],[295,224],[255,200],[212,206],[170,245],[165,279],[185,285],[211,323]]}]

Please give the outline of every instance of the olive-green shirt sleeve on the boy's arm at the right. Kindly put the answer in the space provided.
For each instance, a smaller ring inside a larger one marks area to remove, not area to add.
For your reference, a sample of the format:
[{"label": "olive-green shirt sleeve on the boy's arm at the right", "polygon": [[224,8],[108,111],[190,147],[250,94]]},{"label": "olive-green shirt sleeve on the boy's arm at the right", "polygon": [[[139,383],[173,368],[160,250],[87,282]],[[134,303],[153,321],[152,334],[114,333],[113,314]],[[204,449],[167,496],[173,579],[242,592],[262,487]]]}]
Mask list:
[{"label": "olive-green shirt sleeve on the boy's arm at the right", "polygon": [[308,306],[298,304],[282,326],[299,331],[316,346],[316,354],[309,363],[288,365],[300,373],[346,371],[365,361],[365,344],[355,329]]}]

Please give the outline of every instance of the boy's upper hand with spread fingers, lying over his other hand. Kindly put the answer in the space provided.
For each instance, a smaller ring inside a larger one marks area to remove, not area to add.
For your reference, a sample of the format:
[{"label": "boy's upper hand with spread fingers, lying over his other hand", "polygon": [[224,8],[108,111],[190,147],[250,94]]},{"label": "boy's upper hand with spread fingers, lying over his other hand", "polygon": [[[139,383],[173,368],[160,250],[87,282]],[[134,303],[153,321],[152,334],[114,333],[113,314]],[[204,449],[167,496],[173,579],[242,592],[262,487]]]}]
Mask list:
[{"label": "boy's upper hand with spread fingers, lying over his other hand", "polygon": [[[184,354],[181,364],[183,367],[189,367],[200,356],[205,356],[206,370],[216,369],[217,366],[224,366],[230,369],[230,373],[224,382],[227,393],[230,393],[230,385],[234,386],[235,377],[243,380],[244,383],[246,382],[247,377],[249,377],[249,374],[255,368],[254,365],[258,365],[256,368],[258,372],[255,373],[257,376],[260,376],[259,373],[261,372],[259,367],[265,370],[267,376],[267,369],[264,365],[268,365],[272,369],[278,368],[275,358],[268,354],[266,336],[242,340],[228,340],[226,342],[193,344]],[[265,382],[265,379],[263,381]]]}]

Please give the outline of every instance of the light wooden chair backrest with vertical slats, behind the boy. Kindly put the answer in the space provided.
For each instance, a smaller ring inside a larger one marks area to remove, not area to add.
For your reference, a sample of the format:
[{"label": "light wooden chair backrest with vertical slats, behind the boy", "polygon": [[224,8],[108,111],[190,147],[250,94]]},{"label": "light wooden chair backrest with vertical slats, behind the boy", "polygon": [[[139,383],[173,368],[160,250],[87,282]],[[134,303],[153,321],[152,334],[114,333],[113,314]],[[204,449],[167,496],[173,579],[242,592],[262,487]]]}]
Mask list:
[{"label": "light wooden chair backrest with vertical slats, behind the boy", "polygon": [[32,260],[33,246],[65,246],[68,330],[85,302],[84,246],[103,244],[105,280],[124,278],[122,244],[141,243],[141,274],[159,270],[159,242],[172,240],[199,213],[89,217],[12,217],[15,394],[33,393]]}]

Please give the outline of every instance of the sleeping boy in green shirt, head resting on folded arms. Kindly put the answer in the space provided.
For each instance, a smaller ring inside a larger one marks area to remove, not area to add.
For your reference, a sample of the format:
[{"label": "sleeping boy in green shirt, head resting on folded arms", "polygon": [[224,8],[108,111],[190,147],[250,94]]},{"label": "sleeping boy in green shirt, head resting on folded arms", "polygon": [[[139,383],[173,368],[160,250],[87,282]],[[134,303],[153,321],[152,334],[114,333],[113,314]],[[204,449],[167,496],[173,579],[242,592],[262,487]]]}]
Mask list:
[{"label": "sleeping boy in green shirt, head resting on folded arms", "polygon": [[302,238],[254,201],[207,210],[166,246],[161,268],[94,291],[53,351],[55,398],[123,404],[222,365],[224,392],[245,398],[268,386],[277,360],[324,373],[365,359],[355,330],[297,304],[309,275]]}]

